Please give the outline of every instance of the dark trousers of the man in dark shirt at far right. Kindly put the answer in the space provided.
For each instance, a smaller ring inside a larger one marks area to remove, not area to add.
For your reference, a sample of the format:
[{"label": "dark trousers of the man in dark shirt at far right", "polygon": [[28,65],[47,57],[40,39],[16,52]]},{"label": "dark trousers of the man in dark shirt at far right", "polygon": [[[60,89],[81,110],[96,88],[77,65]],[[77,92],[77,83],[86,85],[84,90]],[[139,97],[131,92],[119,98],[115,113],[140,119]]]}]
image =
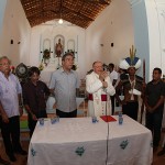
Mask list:
[{"label": "dark trousers of the man in dark shirt at far right", "polygon": [[145,127],[153,133],[153,145],[158,146],[161,141],[161,128],[162,128],[163,110],[148,113],[145,116]]}]

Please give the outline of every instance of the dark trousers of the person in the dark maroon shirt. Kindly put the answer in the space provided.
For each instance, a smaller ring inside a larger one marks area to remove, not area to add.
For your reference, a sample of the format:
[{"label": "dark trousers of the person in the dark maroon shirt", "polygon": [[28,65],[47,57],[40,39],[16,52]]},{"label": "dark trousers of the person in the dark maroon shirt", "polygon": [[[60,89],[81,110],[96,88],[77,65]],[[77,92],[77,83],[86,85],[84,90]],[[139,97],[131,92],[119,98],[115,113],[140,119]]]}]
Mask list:
[{"label": "dark trousers of the person in the dark maroon shirt", "polygon": [[[40,111],[38,113],[35,113],[35,116],[36,116],[37,119],[47,118],[46,110]],[[31,114],[29,114],[28,119],[29,119],[29,129],[30,129],[30,138],[31,138],[33,132],[34,132],[34,129],[35,129],[35,125],[36,125],[37,121],[33,120]]]}]

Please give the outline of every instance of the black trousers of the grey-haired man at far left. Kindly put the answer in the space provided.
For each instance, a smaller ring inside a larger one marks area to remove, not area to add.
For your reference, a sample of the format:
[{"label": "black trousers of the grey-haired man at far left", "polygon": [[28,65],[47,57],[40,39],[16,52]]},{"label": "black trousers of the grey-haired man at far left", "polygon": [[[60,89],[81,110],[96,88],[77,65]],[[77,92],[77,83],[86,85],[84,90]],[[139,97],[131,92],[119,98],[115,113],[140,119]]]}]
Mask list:
[{"label": "black trousers of the grey-haired man at far left", "polygon": [[9,123],[4,123],[0,117],[0,125],[7,155],[11,156],[14,151],[21,151],[20,117],[9,118]]}]

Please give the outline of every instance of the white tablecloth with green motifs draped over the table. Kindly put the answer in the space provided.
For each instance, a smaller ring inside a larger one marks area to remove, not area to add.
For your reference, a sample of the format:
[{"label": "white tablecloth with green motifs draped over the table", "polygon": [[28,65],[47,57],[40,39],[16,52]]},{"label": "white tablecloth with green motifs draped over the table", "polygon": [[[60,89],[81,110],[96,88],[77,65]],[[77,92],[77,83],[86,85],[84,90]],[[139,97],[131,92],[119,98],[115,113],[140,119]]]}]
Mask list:
[{"label": "white tablecloth with green motifs draped over the table", "polygon": [[118,121],[108,125],[100,118],[97,123],[91,118],[74,118],[55,124],[46,119],[43,127],[37,123],[35,128],[28,164],[106,165],[107,161],[107,165],[150,165],[151,132],[129,117],[123,118],[122,125]]}]

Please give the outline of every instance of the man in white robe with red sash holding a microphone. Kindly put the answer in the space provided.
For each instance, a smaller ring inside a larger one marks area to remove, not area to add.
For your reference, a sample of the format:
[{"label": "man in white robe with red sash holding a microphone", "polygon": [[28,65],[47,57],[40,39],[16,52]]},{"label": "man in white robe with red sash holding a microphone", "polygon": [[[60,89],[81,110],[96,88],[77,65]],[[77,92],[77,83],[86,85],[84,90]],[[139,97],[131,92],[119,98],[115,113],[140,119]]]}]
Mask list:
[{"label": "man in white robe with red sash holding a microphone", "polygon": [[111,114],[111,100],[109,96],[116,94],[110,77],[103,72],[102,63],[92,64],[94,72],[86,76],[86,90],[89,94],[88,116],[99,117]]}]

